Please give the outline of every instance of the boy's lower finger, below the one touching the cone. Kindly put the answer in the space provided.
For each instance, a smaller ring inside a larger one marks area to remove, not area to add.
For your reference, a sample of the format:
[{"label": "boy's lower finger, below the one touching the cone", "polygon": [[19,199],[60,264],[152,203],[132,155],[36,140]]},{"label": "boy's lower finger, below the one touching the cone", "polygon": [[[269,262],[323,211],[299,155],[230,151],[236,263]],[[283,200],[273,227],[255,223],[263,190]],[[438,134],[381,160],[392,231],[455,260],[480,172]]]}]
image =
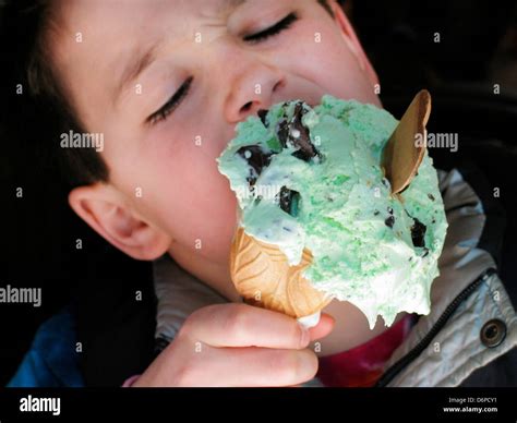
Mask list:
[{"label": "boy's lower finger, below the one touching the cone", "polygon": [[292,386],[317,372],[317,358],[308,349],[205,348],[191,358],[180,386]]}]

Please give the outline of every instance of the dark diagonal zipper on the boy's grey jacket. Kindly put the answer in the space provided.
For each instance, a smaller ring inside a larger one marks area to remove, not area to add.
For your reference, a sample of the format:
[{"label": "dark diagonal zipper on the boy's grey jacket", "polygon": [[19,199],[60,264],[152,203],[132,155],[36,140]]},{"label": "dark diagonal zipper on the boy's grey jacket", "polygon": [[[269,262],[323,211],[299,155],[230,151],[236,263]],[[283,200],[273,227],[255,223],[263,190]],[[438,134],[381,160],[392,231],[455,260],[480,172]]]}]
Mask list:
[{"label": "dark diagonal zipper on the boy's grey jacket", "polygon": [[495,268],[490,267],[484,270],[480,276],[476,278],[473,282],[471,282],[468,287],[466,287],[460,293],[456,295],[456,298],[450,302],[450,304],[445,309],[442,315],[438,317],[436,323],[433,325],[431,330],[429,330],[428,335],[425,335],[420,342],[418,342],[411,351],[409,351],[406,355],[404,355],[399,361],[393,364],[384,374],[381,376],[378,382],[374,385],[375,387],[385,387],[389,384],[395,376],[397,376],[409,363],[411,363],[417,356],[419,356],[422,351],[428,348],[434,337],[442,330],[445,326],[447,321],[454,314],[454,312],[458,309],[459,304],[461,304],[470,294],[476,291],[476,289],[483,282],[485,282],[492,275],[496,273]]}]

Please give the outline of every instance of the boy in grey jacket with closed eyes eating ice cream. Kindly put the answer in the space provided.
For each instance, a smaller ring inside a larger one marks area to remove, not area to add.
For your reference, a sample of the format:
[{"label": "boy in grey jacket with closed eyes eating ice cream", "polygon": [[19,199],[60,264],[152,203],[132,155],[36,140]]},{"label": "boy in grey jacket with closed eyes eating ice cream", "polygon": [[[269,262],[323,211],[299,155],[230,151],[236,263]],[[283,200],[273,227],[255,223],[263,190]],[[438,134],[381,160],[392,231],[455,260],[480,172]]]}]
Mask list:
[{"label": "boy in grey jacket with closed eyes eating ice cream", "polygon": [[[32,90],[61,107],[72,123],[63,132],[104,140],[99,152],[60,152],[70,205],[131,257],[156,261],[158,335],[170,345],[128,386],[297,385],[314,377],[316,355],[326,385],[371,386],[383,372],[381,385],[458,385],[517,345],[510,300],[478,247],[485,216],[457,171],[441,173],[449,233],[432,312],[416,325],[401,313],[393,328],[378,319],[370,330],[354,306],[333,302],[308,331],[239,303],[228,271],[236,200],[215,161],[236,123],[324,94],[381,107],[376,74],[334,0],[44,8]],[[160,318],[166,304],[175,317]],[[436,360],[447,366],[436,371]]]}]

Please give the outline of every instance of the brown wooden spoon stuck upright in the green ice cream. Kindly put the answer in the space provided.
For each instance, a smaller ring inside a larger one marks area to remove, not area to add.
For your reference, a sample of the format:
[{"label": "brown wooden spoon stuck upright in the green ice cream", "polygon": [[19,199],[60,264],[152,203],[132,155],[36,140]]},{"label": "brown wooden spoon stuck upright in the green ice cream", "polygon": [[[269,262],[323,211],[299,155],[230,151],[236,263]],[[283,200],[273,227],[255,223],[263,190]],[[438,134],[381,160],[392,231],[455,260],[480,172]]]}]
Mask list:
[{"label": "brown wooden spoon stuck upright in the green ice cream", "polygon": [[414,96],[384,147],[382,166],[394,195],[411,183],[422,162],[428,138],[425,124],[430,113],[431,95],[422,89]]}]

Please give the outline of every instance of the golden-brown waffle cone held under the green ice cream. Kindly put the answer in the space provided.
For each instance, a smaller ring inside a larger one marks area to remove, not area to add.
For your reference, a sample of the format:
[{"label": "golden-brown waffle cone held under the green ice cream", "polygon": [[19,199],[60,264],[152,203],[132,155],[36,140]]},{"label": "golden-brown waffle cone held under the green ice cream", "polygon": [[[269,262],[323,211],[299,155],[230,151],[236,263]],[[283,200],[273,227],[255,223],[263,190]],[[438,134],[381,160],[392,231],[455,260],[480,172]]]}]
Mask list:
[{"label": "golden-brown waffle cone held under the green ice cream", "polygon": [[332,300],[302,277],[311,263],[312,254],[304,249],[300,264],[289,266],[276,245],[250,237],[243,228],[231,245],[231,279],[244,301],[296,318],[321,311]]}]

